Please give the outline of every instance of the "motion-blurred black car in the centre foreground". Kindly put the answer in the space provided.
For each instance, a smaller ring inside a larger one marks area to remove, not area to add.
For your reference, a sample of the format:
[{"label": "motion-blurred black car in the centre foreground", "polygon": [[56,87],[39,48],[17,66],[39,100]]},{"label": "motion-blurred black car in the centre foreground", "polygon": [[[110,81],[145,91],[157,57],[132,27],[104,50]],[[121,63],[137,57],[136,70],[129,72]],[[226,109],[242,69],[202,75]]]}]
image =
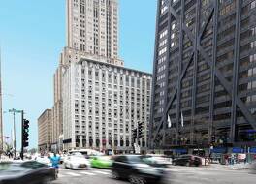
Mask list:
[{"label": "motion-blurred black car in the centre foreground", "polygon": [[146,164],[147,157],[140,155],[120,155],[113,158],[112,177],[128,179],[130,183],[160,183],[165,172]]}]

